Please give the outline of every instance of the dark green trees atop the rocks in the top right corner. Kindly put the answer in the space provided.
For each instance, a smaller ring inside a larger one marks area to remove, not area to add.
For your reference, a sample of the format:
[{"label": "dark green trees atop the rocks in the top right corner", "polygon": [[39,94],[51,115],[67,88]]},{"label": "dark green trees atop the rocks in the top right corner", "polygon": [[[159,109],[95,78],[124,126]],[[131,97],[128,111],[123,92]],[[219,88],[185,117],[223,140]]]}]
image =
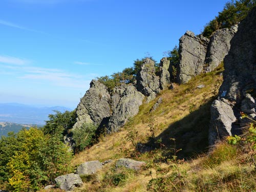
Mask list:
[{"label": "dark green trees atop the rocks in the top right corner", "polygon": [[218,29],[230,28],[238,24],[255,5],[255,0],[232,0],[227,2],[222,12],[219,12],[219,15],[205,26],[202,35],[209,37]]}]

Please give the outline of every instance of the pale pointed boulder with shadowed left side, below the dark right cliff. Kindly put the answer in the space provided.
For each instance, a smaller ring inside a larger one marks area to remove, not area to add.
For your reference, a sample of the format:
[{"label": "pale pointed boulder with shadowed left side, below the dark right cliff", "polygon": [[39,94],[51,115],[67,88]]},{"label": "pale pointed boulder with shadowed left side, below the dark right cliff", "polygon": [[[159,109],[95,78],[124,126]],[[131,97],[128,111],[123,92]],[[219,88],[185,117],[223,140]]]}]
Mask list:
[{"label": "pale pointed boulder with shadowed left side, below the dark right cliff", "polygon": [[209,145],[213,145],[216,140],[231,135],[232,123],[236,122],[237,118],[231,106],[219,100],[212,103],[210,113]]}]

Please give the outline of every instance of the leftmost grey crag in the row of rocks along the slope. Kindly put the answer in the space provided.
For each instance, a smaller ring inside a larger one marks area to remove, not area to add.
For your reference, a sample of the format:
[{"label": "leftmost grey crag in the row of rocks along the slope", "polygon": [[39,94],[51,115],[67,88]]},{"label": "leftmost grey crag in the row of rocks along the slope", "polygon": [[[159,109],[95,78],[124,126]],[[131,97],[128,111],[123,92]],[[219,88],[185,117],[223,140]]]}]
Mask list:
[{"label": "leftmost grey crag in the row of rocks along the slope", "polygon": [[74,128],[83,123],[99,124],[103,118],[111,115],[110,93],[104,84],[97,80],[92,80],[90,89],[81,98],[77,106],[77,119]]}]

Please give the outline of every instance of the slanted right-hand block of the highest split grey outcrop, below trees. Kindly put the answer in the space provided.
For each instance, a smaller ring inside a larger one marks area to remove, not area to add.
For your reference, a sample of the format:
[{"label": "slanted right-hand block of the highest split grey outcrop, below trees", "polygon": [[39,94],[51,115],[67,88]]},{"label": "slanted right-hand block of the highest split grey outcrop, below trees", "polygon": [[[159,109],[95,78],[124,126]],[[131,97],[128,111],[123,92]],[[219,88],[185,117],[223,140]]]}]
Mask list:
[{"label": "slanted right-hand block of the highest split grey outcrop, below trees", "polygon": [[220,29],[211,37],[205,59],[204,72],[210,72],[219,66],[230,49],[230,40],[237,32],[238,26]]}]

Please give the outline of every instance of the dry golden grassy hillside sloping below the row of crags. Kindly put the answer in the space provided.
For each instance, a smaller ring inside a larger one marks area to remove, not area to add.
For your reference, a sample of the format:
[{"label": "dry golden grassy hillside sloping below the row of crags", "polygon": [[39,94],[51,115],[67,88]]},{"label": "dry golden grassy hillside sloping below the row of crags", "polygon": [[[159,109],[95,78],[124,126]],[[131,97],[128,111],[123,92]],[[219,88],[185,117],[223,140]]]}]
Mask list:
[{"label": "dry golden grassy hillside sloping below the row of crags", "polygon": [[[91,160],[113,162],[96,175],[82,178],[84,185],[76,191],[256,191],[255,170],[241,148],[222,142],[208,155],[203,153],[207,150],[209,106],[222,82],[222,70],[220,67],[164,90],[158,96],[163,102],[155,111],[150,112],[158,98],[143,104],[120,132],[101,137],[77,154],[74,166]],[[205,87],[198,89],[199,84]],[[170,138],[175,138],[175,146]],[[155,150],[136,153],[137,142]],[[174,148],[182,148],[177,155],[185,160],[175,160]],[[146,166],[140,172],[115,170],[115,161],[124,157],[145,161]]]}]

